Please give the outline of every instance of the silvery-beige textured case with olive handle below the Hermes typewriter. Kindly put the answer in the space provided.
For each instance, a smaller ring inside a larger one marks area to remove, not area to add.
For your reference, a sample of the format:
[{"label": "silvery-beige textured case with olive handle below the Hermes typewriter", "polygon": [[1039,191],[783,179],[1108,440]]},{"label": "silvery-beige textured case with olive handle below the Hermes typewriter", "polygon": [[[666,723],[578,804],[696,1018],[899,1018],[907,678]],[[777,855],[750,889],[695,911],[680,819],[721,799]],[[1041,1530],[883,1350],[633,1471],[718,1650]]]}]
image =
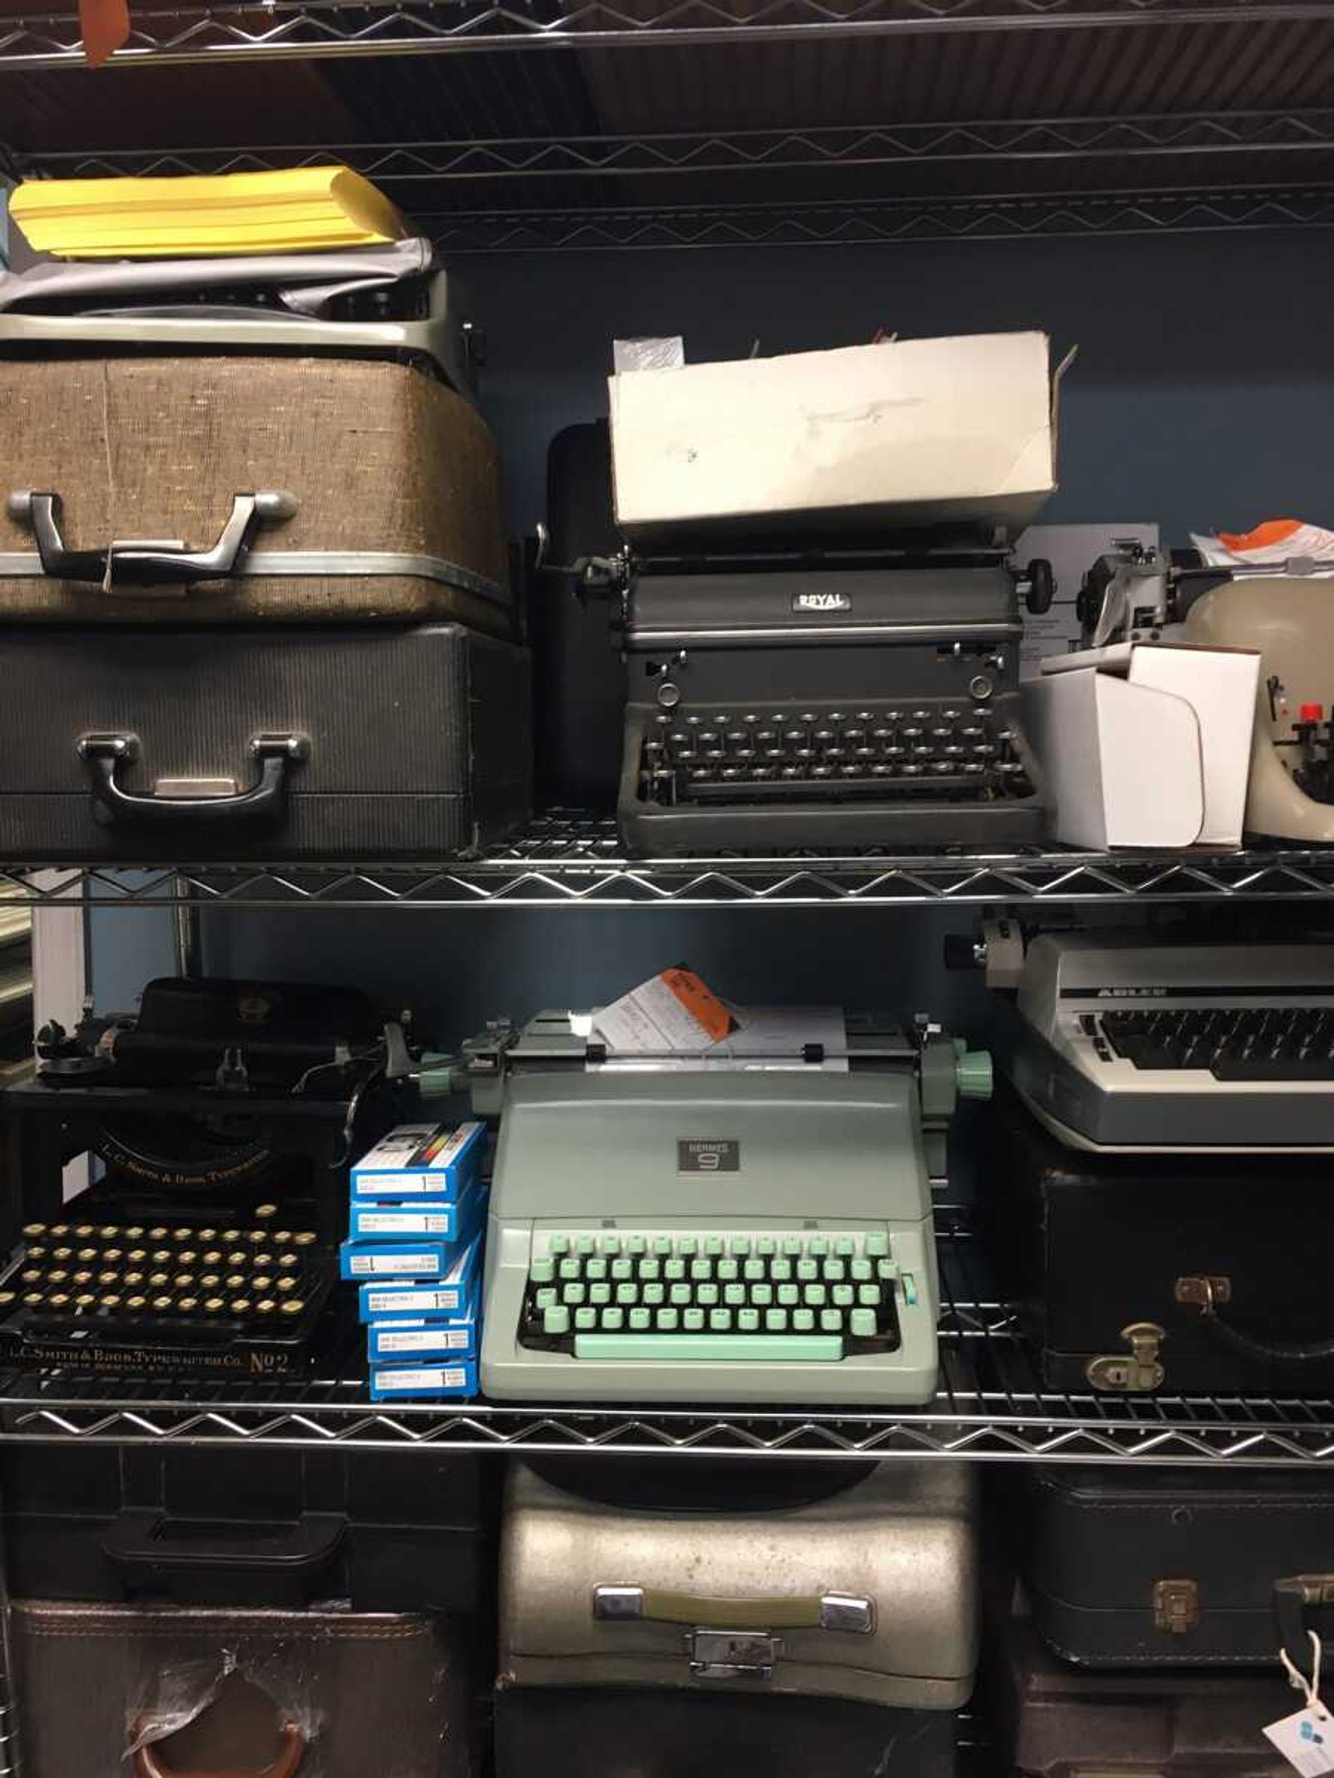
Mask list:
[{"label": "silvery-beige textured case with olive handle below the Hermes typewriter", "polygon": [[514,1467],[502,1686],[662,1686],[953,1710],[976,1664],[966,1463],[877,1463],[809,1504],[608,1506]]}]

